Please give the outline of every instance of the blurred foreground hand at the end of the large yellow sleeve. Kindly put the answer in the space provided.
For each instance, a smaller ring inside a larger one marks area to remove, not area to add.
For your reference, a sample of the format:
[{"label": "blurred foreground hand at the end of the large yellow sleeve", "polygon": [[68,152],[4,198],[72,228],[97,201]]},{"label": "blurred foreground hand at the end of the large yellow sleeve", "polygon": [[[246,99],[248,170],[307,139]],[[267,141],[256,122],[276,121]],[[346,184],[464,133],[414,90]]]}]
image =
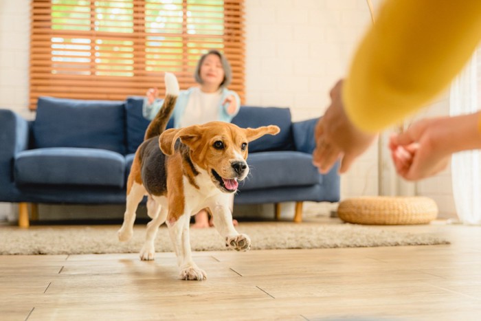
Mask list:
[{"label": "blurred foreground hand at the end of the large yellow sleeve", "polygon": [[343,82],[339,80],[331,90],[331,105],[315,128],[313,164],[320,173],[327,173],[339,159],[339,173],[345,173],[377,137],[360,131],[350,122],[344,111],[342,86]]}]

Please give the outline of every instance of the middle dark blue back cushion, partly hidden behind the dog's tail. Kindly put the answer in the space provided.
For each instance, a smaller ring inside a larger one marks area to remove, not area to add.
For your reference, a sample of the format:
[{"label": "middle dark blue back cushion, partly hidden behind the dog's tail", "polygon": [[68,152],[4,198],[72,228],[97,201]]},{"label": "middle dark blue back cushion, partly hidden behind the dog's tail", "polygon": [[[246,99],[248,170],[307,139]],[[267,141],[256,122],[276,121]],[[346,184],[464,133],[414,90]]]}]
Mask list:
[{"label": "middle dark blue back cushion, partly hidden behind the dog's tail", "polygon": [[[143,97],[128,97],[126,109],[127,153],[135,153],[137,147],[144,141],[145,131],[150,120],[142,115]],[[174,126],[174,118],[170,118],[167,128]]]}]

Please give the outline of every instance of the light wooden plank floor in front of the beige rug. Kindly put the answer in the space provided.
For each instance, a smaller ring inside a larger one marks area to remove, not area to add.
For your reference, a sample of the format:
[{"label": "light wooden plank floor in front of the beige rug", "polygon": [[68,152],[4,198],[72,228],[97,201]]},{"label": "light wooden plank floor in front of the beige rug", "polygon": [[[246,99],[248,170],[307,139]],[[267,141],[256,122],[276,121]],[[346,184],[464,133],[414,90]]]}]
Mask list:
[{"label": "light wooden plank floor in front of the beige rug", "polygon": [[392,228],[452,244],[197,252],[202,282],[172,253],[0,256],[0,320],[481,320],[481,227]]}]

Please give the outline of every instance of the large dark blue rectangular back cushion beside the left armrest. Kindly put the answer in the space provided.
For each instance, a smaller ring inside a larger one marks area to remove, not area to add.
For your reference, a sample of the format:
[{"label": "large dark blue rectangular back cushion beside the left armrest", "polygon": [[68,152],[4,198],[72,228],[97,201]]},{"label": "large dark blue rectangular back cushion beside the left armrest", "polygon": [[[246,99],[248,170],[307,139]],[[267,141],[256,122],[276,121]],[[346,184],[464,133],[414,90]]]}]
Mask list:
[{"label": "large dark blue rectangular back cushion beside the left armrest", "polygon": [[38,98],[33,125],[37,148],[100,148],[124,154],[124,102]]}]

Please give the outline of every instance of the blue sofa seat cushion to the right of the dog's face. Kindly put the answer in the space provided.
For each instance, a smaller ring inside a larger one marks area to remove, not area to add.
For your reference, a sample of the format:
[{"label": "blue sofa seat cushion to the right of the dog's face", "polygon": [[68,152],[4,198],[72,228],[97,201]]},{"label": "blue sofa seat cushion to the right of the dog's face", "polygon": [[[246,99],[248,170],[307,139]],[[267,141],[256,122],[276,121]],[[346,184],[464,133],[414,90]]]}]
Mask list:
[{"label": "blue sofa seat cushion to the right of the dog's face", "polygon": [[250,173],[239,190],[257,190],[282,186],[320,184],[322,176],[309,154],[297,151],[273,151],[249,154]]}]

